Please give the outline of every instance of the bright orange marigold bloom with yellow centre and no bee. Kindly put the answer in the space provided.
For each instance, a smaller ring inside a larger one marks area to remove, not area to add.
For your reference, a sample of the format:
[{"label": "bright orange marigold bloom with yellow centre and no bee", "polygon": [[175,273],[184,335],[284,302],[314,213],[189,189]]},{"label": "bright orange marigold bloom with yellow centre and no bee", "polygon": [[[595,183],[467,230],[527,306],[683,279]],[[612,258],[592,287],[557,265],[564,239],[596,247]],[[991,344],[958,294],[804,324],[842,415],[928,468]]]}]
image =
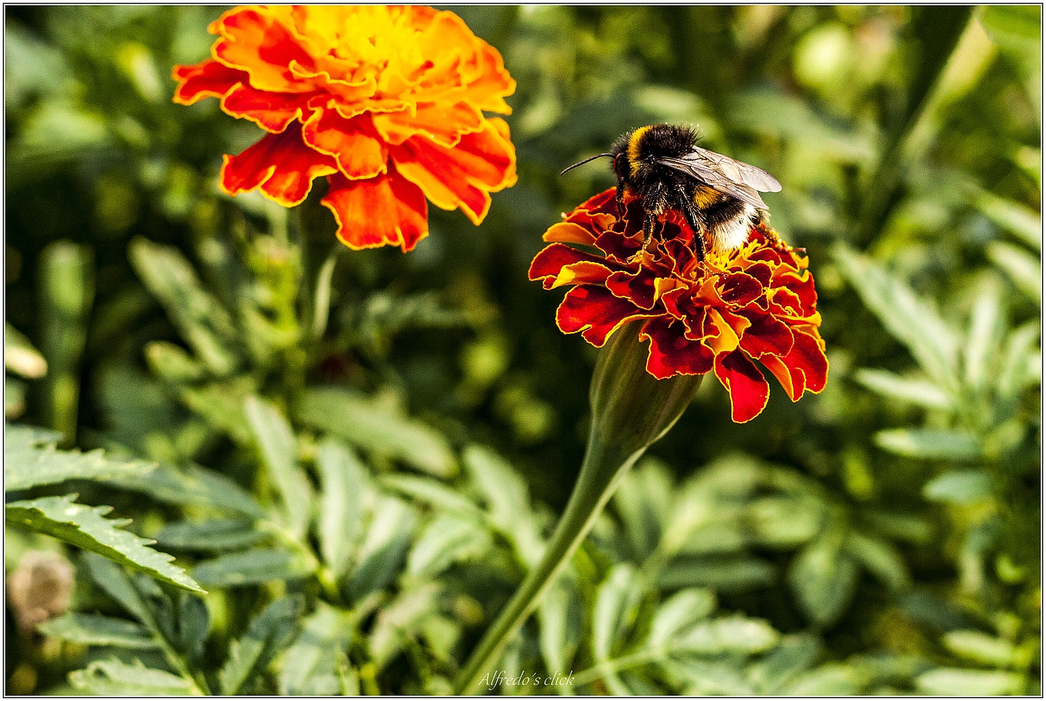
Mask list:
[{"label": "bright orange marigold bloom with yellow centre and no bee", "polygon": [[516,90],[497,49],[454,13],[405,6],[244,6],[208,30],[211,56],[176,66],[175,101],[219,97],[268,132],[225,156],[221,187],[293,206],[326,176],[322,202],[349,248],[412,249],[426,198],[479,224],[516,182]]}]

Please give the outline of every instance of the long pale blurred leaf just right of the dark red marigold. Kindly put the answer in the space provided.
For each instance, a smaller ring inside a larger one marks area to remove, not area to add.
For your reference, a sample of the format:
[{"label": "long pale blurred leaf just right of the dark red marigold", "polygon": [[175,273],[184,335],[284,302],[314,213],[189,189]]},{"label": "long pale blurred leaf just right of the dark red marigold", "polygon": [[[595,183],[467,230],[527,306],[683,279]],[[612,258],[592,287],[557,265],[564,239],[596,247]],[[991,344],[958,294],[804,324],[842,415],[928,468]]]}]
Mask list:
[{"label": "long pale blurred leaf just right of the dark red marigold", "polygon": [[847,281],[890,335],[908,346],[938,385],[954,391],[958,336],[933,306],[919,299],[907,282],[846,246],[837,246],[834,255]]}]

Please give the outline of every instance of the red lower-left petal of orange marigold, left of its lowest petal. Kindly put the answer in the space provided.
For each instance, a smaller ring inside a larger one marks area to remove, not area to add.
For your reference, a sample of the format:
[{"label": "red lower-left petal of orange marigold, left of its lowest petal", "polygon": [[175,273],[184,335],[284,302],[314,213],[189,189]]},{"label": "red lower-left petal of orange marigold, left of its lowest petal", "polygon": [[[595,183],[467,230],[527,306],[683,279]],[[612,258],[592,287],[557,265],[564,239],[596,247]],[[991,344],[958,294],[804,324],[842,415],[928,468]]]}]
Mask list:
[{"label": "red lower-left petal of orange marigold, left of its lowest petal", "polygon": [[337,172],[334,159],[301,140],[294,122],[281,134],[266,134],[238,156],[225,156],[220,186],[228,195],[262,188],[262,193],[291,207],[303,202],[313,179]]}]

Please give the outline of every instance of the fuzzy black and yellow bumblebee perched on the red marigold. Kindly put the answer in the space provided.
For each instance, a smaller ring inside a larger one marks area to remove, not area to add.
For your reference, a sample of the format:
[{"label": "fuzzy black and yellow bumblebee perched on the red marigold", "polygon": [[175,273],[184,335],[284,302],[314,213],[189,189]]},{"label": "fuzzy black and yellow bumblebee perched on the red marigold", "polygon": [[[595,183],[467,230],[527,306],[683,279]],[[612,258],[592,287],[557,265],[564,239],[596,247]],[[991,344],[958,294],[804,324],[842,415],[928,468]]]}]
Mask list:
[{"label": "fuzzy black and yellow bumblebee perched on the red marigold", "polygon": [[624,212],[626,191],[643,200],[643,244],[654,234],[657,218],[674,209],[699,234],[699,259],[707,251],[733,250],[748,241],[751,223],[759,219],[759,210],[768,209],[759,193],[781,188],[766,171],[702,149],[698,133],[688,127],[640,127],[618,139],[610,153],[563,173],[600,157],[614,159],[618,214]]}]

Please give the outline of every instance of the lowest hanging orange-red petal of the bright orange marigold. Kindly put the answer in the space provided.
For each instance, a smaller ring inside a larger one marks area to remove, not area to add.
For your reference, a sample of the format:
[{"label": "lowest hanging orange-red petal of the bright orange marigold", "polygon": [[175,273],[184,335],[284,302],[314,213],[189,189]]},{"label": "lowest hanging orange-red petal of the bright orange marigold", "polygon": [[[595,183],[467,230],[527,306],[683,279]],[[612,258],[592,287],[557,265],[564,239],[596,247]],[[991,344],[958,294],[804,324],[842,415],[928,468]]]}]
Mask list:
[{"label": "lowest hanging orange-red petal of the bright orange marigold", "polygon": [[429,233],[425,196],[395,173],[369,180],[329,177],[321,202],[338,222],[338,239],[354,250],[390,244],[407,252]]}]

